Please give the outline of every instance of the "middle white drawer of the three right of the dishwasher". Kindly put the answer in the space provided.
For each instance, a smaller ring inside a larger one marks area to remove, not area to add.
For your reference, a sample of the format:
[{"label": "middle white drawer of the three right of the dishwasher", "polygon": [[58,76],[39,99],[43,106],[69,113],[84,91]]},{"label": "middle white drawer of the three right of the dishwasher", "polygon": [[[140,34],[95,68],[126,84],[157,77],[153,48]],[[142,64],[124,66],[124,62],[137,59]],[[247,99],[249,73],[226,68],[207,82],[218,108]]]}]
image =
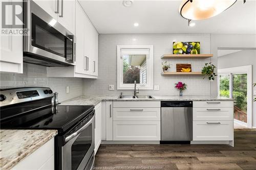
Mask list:
[{"label": "middle white drawer of the three right of the dishwasher", "polygon": [[233,120],[233,108],[193,108],[193,120]]}]

